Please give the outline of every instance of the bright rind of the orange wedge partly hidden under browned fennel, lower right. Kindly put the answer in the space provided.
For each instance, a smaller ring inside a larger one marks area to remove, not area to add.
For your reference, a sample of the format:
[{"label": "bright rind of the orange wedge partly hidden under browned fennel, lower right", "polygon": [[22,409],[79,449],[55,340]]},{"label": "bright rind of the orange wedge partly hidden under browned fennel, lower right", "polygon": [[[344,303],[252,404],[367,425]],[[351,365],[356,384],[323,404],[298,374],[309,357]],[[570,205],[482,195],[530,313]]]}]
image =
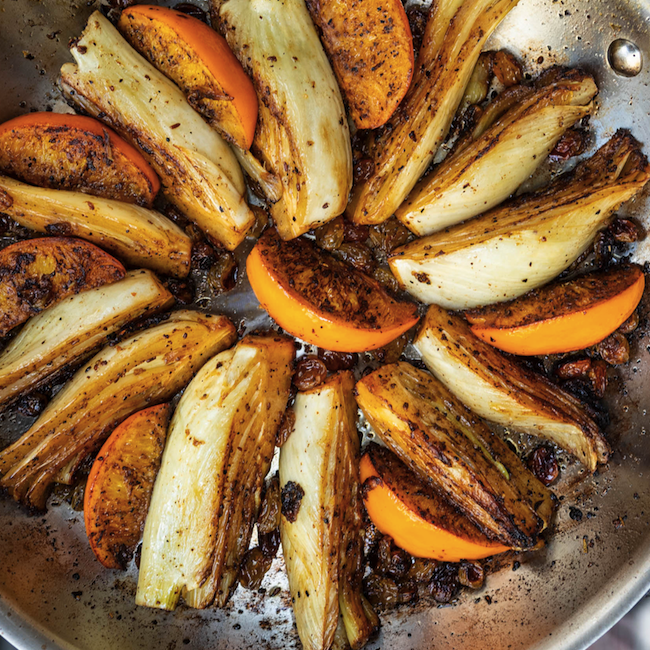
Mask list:
[{"label": "bright rind of the orange wedge partly hidden under browned fennel, lower right", "polygon": [[[362,484],[373,476],[381,478],[368,454],[361,457],[360,473]],[[470,542],[435,526],[411,510],[383,481],[364,491],[364,502],[375,526],[415,557],[460,562],[480,560],[509,550],[507,546],[488,540],[485,545]]]}]

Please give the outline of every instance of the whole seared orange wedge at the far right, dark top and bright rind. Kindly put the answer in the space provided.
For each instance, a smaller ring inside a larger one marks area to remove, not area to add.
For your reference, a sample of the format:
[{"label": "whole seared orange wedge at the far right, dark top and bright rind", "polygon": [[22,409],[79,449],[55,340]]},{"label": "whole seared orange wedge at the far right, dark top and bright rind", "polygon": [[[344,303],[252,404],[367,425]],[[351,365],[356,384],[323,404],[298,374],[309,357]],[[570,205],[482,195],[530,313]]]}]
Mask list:
[{"label": "whole seared orange wedge at the far right, dark top and bright rind", "polygon": [[644,288],[641,267],[620,266],[471,309],[465,317],[476,336],[506,352],[572,352],[617,330],[636,309]]}]

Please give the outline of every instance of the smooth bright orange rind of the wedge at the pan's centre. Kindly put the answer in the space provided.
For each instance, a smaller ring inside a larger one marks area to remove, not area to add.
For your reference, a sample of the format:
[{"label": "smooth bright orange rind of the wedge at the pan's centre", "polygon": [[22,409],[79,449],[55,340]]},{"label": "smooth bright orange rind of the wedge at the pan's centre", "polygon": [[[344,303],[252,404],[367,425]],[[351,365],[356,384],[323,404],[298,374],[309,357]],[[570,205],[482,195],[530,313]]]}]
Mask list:
[{"label": "smooth bright orange rind of the wedge at the pan's centre", "polygon": [[258,246],[246,260],[253,292],[271,318],[293,336],[336,352],[364,352],[387,345],[417,323],[417,316],[386,329],[361,329],[327,317],[298,293],[277,281]]}]

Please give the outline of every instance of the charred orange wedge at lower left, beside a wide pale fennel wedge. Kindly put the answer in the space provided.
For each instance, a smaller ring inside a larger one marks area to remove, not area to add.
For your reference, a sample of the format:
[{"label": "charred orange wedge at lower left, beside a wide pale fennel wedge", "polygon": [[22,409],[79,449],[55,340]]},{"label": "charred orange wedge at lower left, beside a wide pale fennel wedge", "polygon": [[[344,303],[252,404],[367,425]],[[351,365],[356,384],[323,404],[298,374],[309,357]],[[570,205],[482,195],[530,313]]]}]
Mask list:
[{"label": "charred orange wedge at lower left, beside a wide pale fennel wedge", "polygon": [[169,404],[160,404],[124,420],[104,443],[88,475],[86,534],[108,569],[125,569],[142,536],[170,410]]}]

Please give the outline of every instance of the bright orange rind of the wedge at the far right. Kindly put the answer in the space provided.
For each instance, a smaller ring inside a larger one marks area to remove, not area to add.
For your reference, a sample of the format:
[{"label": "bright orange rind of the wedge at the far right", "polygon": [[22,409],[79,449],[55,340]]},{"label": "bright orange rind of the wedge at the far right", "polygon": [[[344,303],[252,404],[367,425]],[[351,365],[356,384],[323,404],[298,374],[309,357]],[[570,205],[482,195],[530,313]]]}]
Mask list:
[{"label": "bright orange rind of the wedge at the far right", "polygon": [[645,288],[643,275],[624,291],[589,309],[510,328],[472,326],[472,332],[505,352],[523,356],[582,350],[616,331],[634,312]]}]

